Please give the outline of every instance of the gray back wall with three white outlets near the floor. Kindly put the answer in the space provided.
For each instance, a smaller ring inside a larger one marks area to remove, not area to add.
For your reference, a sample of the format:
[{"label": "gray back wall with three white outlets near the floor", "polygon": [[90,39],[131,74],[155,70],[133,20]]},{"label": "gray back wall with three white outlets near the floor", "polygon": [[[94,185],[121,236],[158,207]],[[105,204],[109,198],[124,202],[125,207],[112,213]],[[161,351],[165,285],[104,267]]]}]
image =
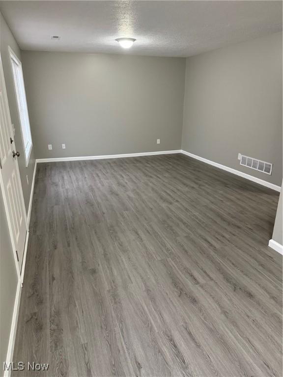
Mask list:
[{"label": "gray back wall with three white outlets near the floor", "polygon": [[180,149],[184,58],[24,51],[22,59],[36,158]]}]

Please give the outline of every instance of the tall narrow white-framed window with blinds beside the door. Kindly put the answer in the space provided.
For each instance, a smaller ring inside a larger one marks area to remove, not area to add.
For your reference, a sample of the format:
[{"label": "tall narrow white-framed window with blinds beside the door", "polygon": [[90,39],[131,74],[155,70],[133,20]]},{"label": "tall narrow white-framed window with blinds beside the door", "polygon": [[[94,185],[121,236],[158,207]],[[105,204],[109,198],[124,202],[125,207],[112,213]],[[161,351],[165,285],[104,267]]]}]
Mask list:
[{"label": "tall narrow white-framed window with blinds beside the door", "polygon": [[27,105],[22,63],[20,62],[20,60],[17,58],[17,56],[13,53],[13,51],[10,48],[9,48],[9,52],[10,52],[12,72],[13,72],[13,78],[14,78],[15,94],[16,94],[17,105],[18,105],[18,110],[19,110],[18,112],[19,112],[19,118],[20,118],[20,124],[21,124],[26,166],[28,166],[28,160],[29,160],[29,156],[30,156],[30,152],[32,148],[32,140],[31,140],[31,134],[30,134],[29,119],[28,119],[28,105]]}]

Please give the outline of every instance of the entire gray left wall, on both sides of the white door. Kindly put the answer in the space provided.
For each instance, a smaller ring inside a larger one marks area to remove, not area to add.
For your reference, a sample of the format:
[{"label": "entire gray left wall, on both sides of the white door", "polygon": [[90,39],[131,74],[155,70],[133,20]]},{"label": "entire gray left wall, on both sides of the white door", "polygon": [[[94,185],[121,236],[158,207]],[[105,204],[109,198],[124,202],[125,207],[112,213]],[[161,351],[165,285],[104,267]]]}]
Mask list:
[{"label": "entire gray left wall, on both sides of the white door", "polygon": [[[21,59],[21,51],[9,29],[5,20],[0,13],[0,54],[3,64],[5,85],[7,89],[11,120],[16,129],[15,144],[20,152],[18,158],[19,169],[21,174],[22,187],[25,198],[26,210],[28,211],[31,182],[34,169],[34,154],[31,151],[28,167],[24,157],[24,150],[21,137],[21,129],[17,112],[16,97],[14,93],[14,84],[12,71],[9,61],[8,46]],[[28,175],[29,185],[27,184],[26,175]],[[0,376],[3,375],[3,361],[6,361],[14,302],[18,283],[15,260],[13,256],[12,245],[9,236],[9,230],[4,211],[2,192],[0,192]]]}]

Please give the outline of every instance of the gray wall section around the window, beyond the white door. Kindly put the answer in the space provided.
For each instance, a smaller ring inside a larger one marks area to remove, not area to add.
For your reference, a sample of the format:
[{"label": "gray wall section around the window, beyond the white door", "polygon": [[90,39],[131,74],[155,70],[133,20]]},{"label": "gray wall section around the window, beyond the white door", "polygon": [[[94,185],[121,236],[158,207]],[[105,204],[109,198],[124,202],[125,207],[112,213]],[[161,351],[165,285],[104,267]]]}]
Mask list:
[{"label": "gray wall section around the window, beyond the white door", "polygon": [[[21,50],[19,49],[17,42],[15,41],[15,38],[13,37],[11,33],[11,30],[7,26],[4,18],[2,17],[0,13],[0,53],[1,53],[1,59],[2,59],[2,64],[3,64],[4,78],[5,78],[5,85],[7,89],[11,120],[16,130],[15,139],[14,139],[15,145],[17,147],[18,152],[20,152],[20,157],[18,157],[18,163],[19,163],[21,182],[22,182],[23,193],[24,193],[24,198],[25,198],[26,211],[28,213],[29,196],[30,196],[34,163],[35,163],[34,146],[31,150],[28,167],[26,167],[24,148],[23,148],[23,142],[22,142],[22,136],[21,136],[21,126],[20,126],[20,120],[18,116],[16,96],[14,92],[14,82],[13,82],[8,46],[11,47],[14,53],[21,60]],[[32,141],[34,143],[34,140]],[[28,175],[29,184],[27,183],[27,175]]]}]

